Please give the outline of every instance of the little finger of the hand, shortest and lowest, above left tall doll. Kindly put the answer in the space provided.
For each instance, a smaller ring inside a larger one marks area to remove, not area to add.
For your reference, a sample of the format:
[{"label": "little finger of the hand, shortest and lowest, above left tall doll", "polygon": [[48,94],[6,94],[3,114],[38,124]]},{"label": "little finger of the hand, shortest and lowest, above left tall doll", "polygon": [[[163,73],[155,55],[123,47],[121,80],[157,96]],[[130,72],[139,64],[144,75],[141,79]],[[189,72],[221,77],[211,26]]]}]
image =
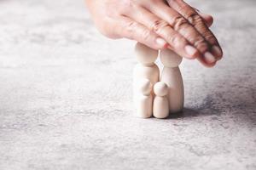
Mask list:
[{"label": "little finger of the hand, shortest and lowest, above left tall doll", "polygon": [[115,22],[115,28],[120,37],[136,40],[154,49],[163,49],[167,46],[167,42],[163,38],[135,20],[120,16],[119,21]]}]

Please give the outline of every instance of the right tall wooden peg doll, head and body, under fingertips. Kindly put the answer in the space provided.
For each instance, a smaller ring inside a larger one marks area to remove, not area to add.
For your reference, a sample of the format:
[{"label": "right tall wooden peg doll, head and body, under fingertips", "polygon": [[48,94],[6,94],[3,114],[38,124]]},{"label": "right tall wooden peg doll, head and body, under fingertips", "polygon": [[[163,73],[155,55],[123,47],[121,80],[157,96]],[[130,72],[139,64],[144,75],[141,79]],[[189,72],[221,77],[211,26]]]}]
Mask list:
[{"label": "right tall wooden peg doll, head and body, under fingertips", "polygon": [[160,51],[160,61],[164,65],[161,82],[166,82],[168,86],[167,98],[169,100],[170,113],[176,113],[183,110],[184,89],[183,77],[178,68],[182,62],[182,57],[170,49]]}]

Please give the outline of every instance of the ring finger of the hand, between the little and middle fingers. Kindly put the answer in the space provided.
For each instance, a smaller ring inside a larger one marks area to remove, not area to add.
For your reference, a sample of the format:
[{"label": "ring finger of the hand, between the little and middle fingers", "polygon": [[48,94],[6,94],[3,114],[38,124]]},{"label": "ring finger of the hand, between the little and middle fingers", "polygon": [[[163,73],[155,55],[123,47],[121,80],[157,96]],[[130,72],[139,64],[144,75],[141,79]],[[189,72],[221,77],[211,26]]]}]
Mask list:
[{"label": "ring finger of the hand, between the little and middle fingers", "polygon": [[169,43],[169,48],[177,54],[189,59],[201,57],[200,52],[190,45],[190,43],[165,21],[161,20],[155,14],[150,13],[146,8],[137,7],[129,14],[132,20],[141,23],[149,30],[154,31],[160,37],[163,37]]}]

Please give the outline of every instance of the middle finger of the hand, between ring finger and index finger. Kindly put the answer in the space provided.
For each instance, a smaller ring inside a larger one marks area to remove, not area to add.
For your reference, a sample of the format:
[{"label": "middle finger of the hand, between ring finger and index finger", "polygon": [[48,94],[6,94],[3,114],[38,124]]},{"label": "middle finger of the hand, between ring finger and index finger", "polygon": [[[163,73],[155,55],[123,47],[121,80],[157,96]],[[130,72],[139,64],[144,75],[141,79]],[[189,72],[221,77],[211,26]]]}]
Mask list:
[{"label": "middle finger of the hand, between ring finger and index finger", "polygon": [[167,6],[166,3],[156,3],[154,6],[148,6],[148,9],[161,19],[166,20],[175,31],[186,38],[201,54],[205,54],[210,50],[207,41],[201,36],[201,33],[194,26],[191,26],[189,21],[185,20],[176,10]]}]

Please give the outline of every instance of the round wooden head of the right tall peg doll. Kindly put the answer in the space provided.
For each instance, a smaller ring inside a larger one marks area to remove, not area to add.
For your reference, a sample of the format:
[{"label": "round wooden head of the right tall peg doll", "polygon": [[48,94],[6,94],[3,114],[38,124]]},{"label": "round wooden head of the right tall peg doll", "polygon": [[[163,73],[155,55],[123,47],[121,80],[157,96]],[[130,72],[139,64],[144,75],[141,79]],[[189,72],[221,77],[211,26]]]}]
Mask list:
[{"label": "round wooden head of the right tall peg doll", "polygon": [[177,67],[183,61],[183,58],[170,49],[160,51],[161,63],[166,67]]}]

